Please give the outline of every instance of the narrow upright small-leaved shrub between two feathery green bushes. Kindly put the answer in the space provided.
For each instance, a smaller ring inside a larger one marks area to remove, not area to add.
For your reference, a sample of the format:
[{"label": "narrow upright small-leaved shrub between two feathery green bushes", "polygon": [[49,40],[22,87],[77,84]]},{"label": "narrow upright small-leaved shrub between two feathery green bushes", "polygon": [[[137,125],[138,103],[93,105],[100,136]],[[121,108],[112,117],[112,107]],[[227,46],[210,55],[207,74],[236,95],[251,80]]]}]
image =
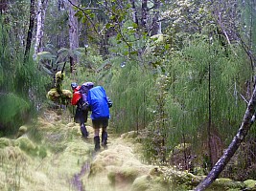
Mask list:
[{"label": "narrow upright small-leaved shrub between two feathery green bushes", "polygon": [[154,104],[153,120],[146,130],[142,131],[142,139],[144,145],[144,154],[152,163],[165,162],[167,156],[167,135],[171,130],[170,118],[166,114],[166,100],[170,87],[170,77],[160,75],[155,82],[153,90],[157,90],[153,94]]}]

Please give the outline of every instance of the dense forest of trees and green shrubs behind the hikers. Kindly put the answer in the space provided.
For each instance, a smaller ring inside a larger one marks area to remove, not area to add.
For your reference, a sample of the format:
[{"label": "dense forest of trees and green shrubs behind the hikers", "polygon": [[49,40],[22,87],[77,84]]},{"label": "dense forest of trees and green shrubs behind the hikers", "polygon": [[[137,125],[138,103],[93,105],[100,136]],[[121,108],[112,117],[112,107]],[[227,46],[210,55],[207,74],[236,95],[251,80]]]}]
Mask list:
[{"label": "dense forest of trees and green shrubs behind the hikers", "polygon": [[[137,131],[145,160],[206,175],[253,92],[255,9],[255,0],[1,0],[0,136],[56,108],[46,95],[64,69],[63,89],[105,87],[109,126]],[[252,127],[222,177],[256,180],[255,136]]]}]

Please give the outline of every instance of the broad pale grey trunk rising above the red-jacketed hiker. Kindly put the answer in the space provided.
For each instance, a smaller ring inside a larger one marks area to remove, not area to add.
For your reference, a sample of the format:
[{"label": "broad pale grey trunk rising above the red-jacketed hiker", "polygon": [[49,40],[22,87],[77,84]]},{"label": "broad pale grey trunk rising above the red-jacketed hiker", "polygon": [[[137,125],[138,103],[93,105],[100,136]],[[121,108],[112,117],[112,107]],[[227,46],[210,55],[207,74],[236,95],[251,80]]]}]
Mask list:
[{"label": "broad pale grey trunk rising above the red-jacketed hiker", "polygon": [[79,22],[75,16],[76,11],[73,5],[78,6],[78,0],[69,0],[69,44],[70,44],[70,73],[73,72],[75,64],[78,62],[74,50],[79,48]]}]

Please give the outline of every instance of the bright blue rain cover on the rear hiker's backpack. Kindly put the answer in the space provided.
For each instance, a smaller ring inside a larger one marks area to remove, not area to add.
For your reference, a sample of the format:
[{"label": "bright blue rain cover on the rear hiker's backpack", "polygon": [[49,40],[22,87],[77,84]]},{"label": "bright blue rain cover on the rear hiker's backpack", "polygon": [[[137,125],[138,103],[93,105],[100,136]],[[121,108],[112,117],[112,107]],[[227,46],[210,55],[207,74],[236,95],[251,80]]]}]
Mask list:
[{"label": "bright blue rain cover on the rear hiker's backpack", "polygon": [[91,119],[97,120],[109,118],[109,108],[107,105],[107,96],[102,86],[96,86],[88,91],[88,106],[92,111]]}]

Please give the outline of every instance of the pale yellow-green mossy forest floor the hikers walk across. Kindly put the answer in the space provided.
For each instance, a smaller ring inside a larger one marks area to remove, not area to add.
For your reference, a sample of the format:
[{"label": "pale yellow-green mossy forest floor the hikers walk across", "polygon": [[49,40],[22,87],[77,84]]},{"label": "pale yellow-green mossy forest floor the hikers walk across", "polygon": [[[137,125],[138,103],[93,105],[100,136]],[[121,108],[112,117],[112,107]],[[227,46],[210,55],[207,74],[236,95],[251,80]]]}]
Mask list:
[{"label": "pale yellow-green mossy forest floor the hikers walk across", "polygon": [[[203,179],[147,164],[136,132],[115,135],[109,127],[107,149],[95,153],[90,120],[86,127],[89,138],[84,139],[67,114],[44,111],[36,124],[21,126],[16,138],[0,138],[0,190],[185,191]],[[212,190],[244,188],[225,182]]]}]

